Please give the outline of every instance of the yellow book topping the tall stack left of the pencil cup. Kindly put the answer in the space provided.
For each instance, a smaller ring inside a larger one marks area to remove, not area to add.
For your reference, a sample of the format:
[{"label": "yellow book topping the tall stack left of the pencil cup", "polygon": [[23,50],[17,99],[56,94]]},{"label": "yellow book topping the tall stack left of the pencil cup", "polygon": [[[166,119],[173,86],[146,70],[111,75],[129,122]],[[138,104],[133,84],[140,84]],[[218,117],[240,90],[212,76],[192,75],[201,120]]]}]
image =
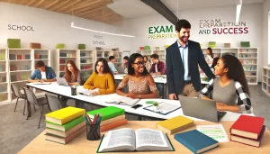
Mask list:
[{"label": "yellow book topping the tall stack left of the pencil cup", "polygon": [[48,122],[53,122],[57,124],[65,124],[84,114],[85,114],[85,109],[68,106],[63,109],[51,112],[51,113],[47,113],[45,114],[45,117],[46,117],[46,121]]}]

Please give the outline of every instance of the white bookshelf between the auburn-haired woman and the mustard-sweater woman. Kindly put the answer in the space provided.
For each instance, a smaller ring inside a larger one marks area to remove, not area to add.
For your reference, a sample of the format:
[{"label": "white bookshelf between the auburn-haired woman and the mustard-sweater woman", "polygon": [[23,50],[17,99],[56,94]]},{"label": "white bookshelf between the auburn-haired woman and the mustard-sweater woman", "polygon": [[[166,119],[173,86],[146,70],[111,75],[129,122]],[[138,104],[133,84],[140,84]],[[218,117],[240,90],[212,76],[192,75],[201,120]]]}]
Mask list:
[{"label": "white bookshelf between the auburn-haired woman and the mustard-sweater woman", "polygon": [[76,58],[76,67],[81,70],[82,83],[85,83],[94,71],[94,51],[77,50]]}]

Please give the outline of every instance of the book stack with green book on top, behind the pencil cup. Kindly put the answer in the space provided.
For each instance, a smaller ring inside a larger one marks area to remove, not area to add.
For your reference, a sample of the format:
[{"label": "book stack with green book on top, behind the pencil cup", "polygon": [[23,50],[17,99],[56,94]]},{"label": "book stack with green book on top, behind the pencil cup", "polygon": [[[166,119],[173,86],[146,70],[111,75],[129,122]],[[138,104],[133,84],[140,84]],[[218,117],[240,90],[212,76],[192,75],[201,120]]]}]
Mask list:
[{"label": "book stack with green book on top, behind the pencil cup", "polygon": [[102,122],[100,123],[100,131],[108,131],[112,128],[126,124],[128,121],[125,117],[125,111],[121,108],[108,106],[101,109],[87,112],[88,116],[93,120],[94,114],[102,115]]}]

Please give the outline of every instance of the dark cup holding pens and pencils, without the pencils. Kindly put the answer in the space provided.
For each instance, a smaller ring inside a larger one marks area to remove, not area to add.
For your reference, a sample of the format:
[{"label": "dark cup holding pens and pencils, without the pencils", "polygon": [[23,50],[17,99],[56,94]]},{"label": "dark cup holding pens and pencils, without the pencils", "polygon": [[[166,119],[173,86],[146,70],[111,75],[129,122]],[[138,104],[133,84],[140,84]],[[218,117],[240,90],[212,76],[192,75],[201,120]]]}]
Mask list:
[{"label": "dark cup holding pens and pencils, without the pencils", "polygon": [[86,124],[86,138],[87,140],[100,139],[100,123]]}]

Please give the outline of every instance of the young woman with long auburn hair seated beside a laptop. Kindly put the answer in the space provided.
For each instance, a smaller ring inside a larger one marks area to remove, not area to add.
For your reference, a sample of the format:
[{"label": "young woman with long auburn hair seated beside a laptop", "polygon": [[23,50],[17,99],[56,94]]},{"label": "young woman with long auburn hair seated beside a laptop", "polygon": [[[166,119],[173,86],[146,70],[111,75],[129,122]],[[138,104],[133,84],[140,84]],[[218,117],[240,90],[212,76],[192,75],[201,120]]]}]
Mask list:
[{"label": "young woman with long auburn hair seated beside a laptop", "polygon": [[[72,60],[67,60],[67,64],[65,67],[65,75],[63,78],[66,78],[67,84],[69,86],[79,86],[81,85],[81,72],[78,68],[76,68],[76,64]],[[61,107],[67,107],[67,96],[62,96],[60,98]],[[82,107],[78,101],[76,101],[76,107]]]}]

